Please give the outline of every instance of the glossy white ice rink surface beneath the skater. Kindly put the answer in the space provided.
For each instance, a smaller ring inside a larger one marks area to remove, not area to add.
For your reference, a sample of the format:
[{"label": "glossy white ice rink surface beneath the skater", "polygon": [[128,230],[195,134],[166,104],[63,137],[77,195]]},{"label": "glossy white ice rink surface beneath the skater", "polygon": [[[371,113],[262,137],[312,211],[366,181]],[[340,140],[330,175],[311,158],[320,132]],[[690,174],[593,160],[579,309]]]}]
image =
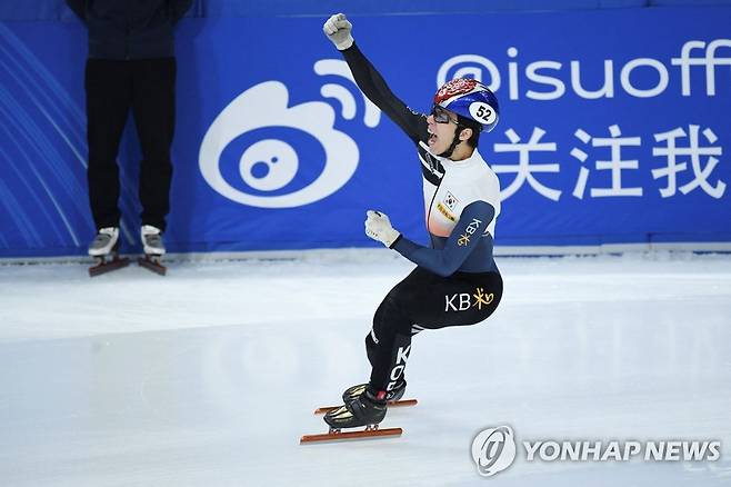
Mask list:
[{"label": "glossy white ice rink surface beneath the skater", "polygon": [[[2,486],[731,484],[731,257],[502,258],[485,322],[413,341],[397,439],[300,446],[368,378],[363,337],[413,267],[388,250],[180,261],[94,279],[0,266]],[[718,439],[718,461],[525,461],[478,475],[482,429]]]}]

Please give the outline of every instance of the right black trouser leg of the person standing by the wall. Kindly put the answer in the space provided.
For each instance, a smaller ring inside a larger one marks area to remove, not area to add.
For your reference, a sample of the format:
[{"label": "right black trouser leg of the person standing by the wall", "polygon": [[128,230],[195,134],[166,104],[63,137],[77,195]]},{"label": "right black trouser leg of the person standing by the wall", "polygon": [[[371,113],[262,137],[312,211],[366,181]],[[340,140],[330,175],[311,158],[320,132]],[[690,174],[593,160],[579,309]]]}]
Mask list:
[{"label": "right black trouser leg of the person standing by the wall", "polygon": [[134,125],[142,148],[140,203],[142,225],[166,229],[170,210],[176,123],[176,59],[141,59],[133,63]]}]

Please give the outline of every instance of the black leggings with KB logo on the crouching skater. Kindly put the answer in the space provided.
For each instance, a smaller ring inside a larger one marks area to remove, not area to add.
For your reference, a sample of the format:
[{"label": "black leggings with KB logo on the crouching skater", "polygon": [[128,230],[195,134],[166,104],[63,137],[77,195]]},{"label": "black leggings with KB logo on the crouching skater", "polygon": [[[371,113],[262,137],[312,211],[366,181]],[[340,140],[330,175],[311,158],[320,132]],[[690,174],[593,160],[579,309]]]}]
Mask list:
[{"label": "black leggings with KB logo on the crouching skater", "polygon": [[502,297],[499,272],[455,272],[441,277],[417,267],[385,296],[366,337],[373,367],[370,384],[391,390],[403,380],[411,337],[424,329],[474,325],[498,307]]}]

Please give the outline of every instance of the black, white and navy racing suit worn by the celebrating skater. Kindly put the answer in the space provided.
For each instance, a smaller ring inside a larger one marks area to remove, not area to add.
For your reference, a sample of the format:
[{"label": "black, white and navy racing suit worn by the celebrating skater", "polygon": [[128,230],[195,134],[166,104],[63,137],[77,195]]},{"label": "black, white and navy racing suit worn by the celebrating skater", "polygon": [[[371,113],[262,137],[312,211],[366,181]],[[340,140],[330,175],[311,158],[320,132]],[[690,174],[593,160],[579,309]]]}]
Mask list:
[{"label": "black, white and navy racing suit worn by the celebrating skater", "polygon": [[500,182],[474,150],[453,161],[428,150],[427,117],[411,111],[385,85],[357,44],[342,51],[358,87],[413,141],[421,161],[431,248],[399,237],[391,246],[417,268],[385,296],[366,337],[371,386],[391,390],[403,380],[411,337],[423,329],[474,325],[502,297],[492,257]]}]

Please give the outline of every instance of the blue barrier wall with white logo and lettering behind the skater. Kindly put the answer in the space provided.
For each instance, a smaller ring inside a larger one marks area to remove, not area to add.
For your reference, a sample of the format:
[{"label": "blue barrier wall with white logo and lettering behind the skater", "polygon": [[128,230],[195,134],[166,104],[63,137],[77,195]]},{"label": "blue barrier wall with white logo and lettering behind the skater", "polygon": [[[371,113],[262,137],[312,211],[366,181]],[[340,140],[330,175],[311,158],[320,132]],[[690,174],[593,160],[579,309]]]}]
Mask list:
[{"label": "blue barrier wall with white logo and lettering behind the skater", "polygon": [[[178,29],[170,250],[371,246],[369,208],[425,241],[413,147],[358,91],[324,18],[214,6]],[[79,255],[93,235],[86,32],[56,7],[0,23],[2,257]],[[495,90],[480,150],[501,180],[499,246],[731,240],[731,8],[366,13],[359,46],[414,110],[455,76]],[[138,160],[128,127],[127,249]]]}]

